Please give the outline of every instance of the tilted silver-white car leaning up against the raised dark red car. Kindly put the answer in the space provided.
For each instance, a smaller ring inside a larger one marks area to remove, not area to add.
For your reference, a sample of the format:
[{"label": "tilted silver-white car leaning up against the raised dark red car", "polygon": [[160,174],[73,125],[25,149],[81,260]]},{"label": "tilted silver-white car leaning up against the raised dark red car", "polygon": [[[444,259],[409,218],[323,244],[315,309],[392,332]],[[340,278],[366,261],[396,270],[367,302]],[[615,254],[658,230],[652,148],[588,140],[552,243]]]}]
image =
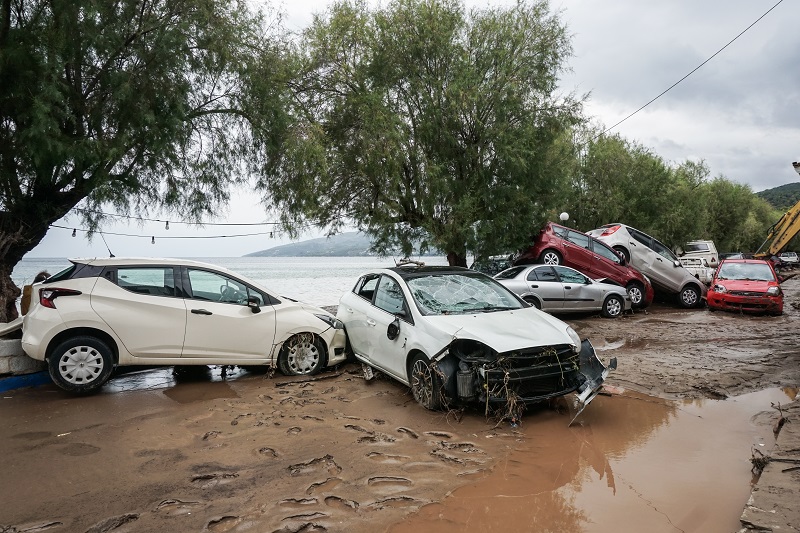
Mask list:
[{"label": "tilted silver-white car leaning up against the raised dark red car", "polygon": [[606,224],[588,234],[614,248],[634,268],[650,278],[657,289],[678,295],[683,307],[702,304],[705,284],[681,265],[672,250],[653,237],[625,224]]}]

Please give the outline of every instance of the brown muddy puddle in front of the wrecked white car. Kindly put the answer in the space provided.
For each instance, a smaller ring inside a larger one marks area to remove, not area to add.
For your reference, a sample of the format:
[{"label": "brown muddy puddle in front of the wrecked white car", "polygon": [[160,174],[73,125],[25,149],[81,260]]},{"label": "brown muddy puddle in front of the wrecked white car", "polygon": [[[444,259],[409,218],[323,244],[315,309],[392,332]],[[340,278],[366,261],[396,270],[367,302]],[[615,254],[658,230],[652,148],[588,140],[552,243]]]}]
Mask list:
[{"label": "brown muddy puddle in front of the wrecked white car", "polygon": [[563,415],[536,412],[490,473],[390,531],[434,522],[440,532],[738,530],[751,448],[774,443],[770,428],[751,419],[790,396],[771,389],[726,401],[598,397],[572,428]]}]

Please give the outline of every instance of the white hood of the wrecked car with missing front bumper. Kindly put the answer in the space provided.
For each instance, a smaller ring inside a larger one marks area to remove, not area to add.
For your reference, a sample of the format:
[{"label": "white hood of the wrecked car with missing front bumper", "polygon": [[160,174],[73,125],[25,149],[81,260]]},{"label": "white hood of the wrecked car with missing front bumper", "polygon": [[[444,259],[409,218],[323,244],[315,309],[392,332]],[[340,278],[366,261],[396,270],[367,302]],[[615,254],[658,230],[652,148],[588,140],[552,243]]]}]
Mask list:
[{"label": "white hood of the wrecked car with missing front bumper", "polygon": [[477,340],[499,353],[533,346],[573,344],[567,335],[567,324],[533,307],[425,318],[448,337]]}]

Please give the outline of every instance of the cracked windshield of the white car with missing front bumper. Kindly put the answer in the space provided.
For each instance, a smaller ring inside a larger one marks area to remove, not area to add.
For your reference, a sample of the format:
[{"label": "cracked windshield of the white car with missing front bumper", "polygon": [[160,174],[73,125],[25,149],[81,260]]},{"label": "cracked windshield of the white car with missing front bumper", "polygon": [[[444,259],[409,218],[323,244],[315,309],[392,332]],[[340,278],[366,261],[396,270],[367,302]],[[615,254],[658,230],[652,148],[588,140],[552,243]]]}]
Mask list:
[{"label": "cracked windshield of the white car with missing front bumper", "polygon": [[410,279],[408,287],[420,311],[426,315],[506,311],[522,307],[508,291],[487,278],[424,276]]}]

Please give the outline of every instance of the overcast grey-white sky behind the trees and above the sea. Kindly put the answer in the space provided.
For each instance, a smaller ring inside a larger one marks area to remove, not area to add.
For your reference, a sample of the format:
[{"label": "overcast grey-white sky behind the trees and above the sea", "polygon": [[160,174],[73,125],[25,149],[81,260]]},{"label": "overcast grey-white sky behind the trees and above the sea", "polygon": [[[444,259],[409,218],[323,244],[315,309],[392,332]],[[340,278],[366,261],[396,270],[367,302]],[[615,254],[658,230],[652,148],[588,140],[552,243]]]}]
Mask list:
[{"label": "overcast grey-white sky behind the trees and above the sea", "polygon": [[[476,8],[511,3],[466,1]],[[282,4],[287,26],[299,31],[326,5]],[[589,94],[587,115],[606,127],[658,96],[763,15],[702,68],[612,131],[668,161],[705,160],[712,175],[754,191],[800,180],[791,165],[800,161],[800,0],[561,0],[551,6],[560,10],[573,36],[574,57],[562,91]],[[117,256],[178,257],[241,256],[289,242],[268,234],[177,239],[268,228],[198,230],[167,215],[160,218],[172,220],[168,231],[163,223],[119,223],[106,230],[135,236],[108,234],[106,242]],[[252,191],[239,191],[215,222],[268,220]],[[58,224],[78,229],[77,237],[71,237],[71,229],[53,228],[28,257],[108,255],[101,238],[86,240],[76,218]],[[304,238],[316,236],[309,232]]]}]

